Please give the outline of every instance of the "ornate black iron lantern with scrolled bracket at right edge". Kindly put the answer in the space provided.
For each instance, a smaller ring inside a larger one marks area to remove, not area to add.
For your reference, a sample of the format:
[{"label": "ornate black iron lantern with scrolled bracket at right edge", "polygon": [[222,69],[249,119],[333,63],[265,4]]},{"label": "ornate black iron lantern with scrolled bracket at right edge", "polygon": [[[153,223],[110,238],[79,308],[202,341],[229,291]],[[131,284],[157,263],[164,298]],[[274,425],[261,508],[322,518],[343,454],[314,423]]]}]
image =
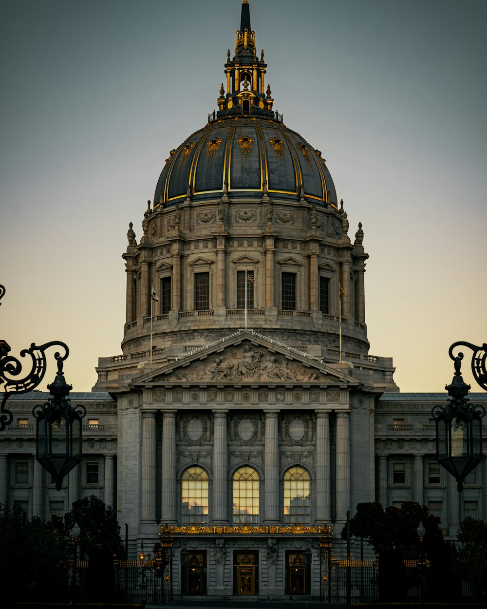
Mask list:
[{"label": "ornate black iron lantern with scrolled bracket at right edge", "polygon": [[[460,367],[463,353],[453,355],[458,345],[468,345],[477,350],[472,357],[472,370],[478,384],[487,389],[485,360],[487,345],[483,348],[470,343],[454,343],[449,355],[455,362],[455,375],[450,385],[446,385],[449,399],[444,407],[433,407],[431,414],[436,421],[436,459],[457,481],[457,490],[463,489],[463,481],[482,460],[482,417],[485,408],[470,403],[467,385],[461,377]],[[478,353],[485,351],[483,357]],[[483,372],[482,372],[483,370]],[[483,376],[482,376],[483,375]]]}]

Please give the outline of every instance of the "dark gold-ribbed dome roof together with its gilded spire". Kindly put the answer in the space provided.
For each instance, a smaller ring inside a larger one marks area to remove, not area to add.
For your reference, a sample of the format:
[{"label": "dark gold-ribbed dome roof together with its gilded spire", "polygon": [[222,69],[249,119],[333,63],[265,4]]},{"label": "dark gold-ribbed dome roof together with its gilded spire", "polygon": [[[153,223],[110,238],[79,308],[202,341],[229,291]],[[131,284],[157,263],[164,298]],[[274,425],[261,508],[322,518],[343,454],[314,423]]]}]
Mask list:
[{"label": "dark gold-ribbed dome roof together with its gilded spire", "polygon": [[[247,0],[242,4],[235,54],[226,53],[226,89],[222,83],[218,110],[208,123],[171,150],[159,176],[154,208],[215,200],[223,192],[232,200],[302,202],[337,209],[337,195],[321,152],[290,130],[273,110],[272,91],[264,79],[264,49],[256,53]],[[225,93],[226,91],[226,93]]]}]

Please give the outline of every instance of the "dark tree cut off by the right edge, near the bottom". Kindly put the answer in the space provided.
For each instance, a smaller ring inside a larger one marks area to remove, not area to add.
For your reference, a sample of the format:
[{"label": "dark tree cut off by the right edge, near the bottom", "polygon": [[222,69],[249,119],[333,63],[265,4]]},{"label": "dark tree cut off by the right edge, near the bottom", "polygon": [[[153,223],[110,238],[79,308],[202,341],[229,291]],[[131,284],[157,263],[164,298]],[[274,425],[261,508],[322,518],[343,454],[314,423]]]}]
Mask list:
[{"label": "dark tree cut off by the right edge, near the bottom", "polygon": [[487,523],[467,516],[457,533],[460,547],[455,568],[475,596],[487,596]]}]

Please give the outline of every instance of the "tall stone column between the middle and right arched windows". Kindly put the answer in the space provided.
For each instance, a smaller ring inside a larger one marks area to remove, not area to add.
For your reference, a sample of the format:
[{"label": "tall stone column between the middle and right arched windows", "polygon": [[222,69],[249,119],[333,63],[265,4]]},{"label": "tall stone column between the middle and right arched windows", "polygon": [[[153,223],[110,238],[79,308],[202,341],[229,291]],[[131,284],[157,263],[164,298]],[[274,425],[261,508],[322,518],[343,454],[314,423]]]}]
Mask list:
[{"label": "tall stone column between the middle and right arched windows", "polygon": [[265,412],[265,515],[266,525],[279,523],[279,413]]}]

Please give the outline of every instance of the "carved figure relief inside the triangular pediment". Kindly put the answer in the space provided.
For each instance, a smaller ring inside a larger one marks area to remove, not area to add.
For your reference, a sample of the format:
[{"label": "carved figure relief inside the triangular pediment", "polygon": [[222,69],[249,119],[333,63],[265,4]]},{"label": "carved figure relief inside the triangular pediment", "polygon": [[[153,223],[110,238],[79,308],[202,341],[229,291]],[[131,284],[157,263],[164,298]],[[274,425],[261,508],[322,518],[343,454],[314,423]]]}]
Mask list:
[{"label": "carved figure relief inside the triangular pediment", "polygon": [[306,370],[273,353],[251,345],[227,351],[214,359],[176,372],[167,381],[245,381],[310,382],[318,381],[314,370]]}]

